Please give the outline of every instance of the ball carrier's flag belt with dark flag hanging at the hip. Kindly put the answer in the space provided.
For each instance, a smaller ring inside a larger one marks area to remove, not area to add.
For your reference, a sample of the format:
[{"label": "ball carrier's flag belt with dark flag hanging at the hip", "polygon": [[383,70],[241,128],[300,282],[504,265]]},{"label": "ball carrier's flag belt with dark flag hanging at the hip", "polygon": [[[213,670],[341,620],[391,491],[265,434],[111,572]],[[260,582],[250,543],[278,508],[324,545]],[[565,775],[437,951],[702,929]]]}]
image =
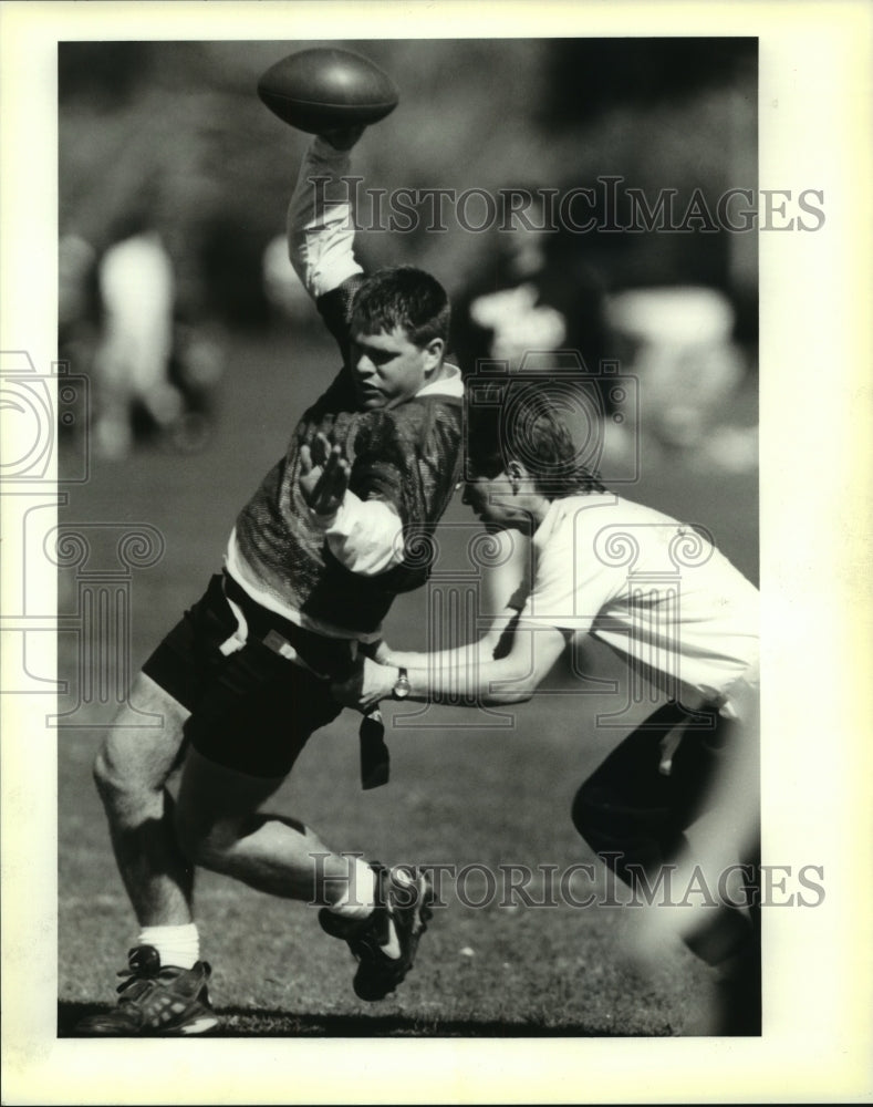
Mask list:
[{"label": "ball carrier's flag belt with dark flag hanging at the hip", "polygon": [[[219,646],[226,656],[241,650],[253,638],[315,680],[336,681],[351,674],[358,648],[354,639],[325,638],[282,619],[252,600],[228,572],[224,573],[224,590],[237,620],[237,629]],[[387,784],[391,756],[385,743],[385,722],[378,706],[372,707],[361,720],[358,743],[361,787],[370,789]]]}]

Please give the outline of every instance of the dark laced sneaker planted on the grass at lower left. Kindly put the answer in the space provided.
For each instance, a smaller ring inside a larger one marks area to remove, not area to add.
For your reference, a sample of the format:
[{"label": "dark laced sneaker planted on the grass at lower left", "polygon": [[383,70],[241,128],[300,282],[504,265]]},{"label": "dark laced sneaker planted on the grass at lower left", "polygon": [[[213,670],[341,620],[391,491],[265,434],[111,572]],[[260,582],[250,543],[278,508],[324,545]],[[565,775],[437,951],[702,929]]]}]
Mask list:
[{"label": "dark laced sneaker planted on the grass at lower left", "polygon": [[118,985],[117,1007],[83,1020],[80,1034],[116,1037],[206,1034],[218,1025],[206,983],[206,961],[193,969],[162,965],[153,945],[137,945],[127,955],[127,980]]}]

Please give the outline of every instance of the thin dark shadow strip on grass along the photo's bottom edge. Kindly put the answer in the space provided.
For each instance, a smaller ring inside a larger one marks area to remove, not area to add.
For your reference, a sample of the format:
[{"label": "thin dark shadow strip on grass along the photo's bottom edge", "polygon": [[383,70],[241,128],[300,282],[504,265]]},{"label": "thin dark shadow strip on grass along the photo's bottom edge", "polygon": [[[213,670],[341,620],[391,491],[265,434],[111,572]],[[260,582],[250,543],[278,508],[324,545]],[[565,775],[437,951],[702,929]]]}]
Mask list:
[{"label": "thin dark shadow strip on grass along the photo's bottom edge", "polygon": [[[59,1003],[58,1036],[81,1037],[80,1020],[105,1011],[96,1003]],[[403,1015],[306,1015],[290,1011],[252,1011],[221,1007],[221,1023],[209,1037],[634,1037],[612,1027],[585,1025],[543,1026],[526,1022],[477,1022],[475,1020],[414,1018]],[[661,1034],[669,1036],[665,1026]]]}]

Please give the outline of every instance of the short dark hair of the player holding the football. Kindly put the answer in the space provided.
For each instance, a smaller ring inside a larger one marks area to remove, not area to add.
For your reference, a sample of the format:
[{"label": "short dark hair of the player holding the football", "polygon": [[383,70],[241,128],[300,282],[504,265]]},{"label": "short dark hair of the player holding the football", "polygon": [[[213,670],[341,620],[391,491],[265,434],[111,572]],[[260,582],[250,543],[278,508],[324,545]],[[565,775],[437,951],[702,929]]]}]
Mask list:
[{"label": "short dark hair of the player holding the football", "polygon": [[391,333],[401,327],[410,342],[426,346],[448,341],[451,309],[436,277],[414,266],[393,266],[371,273],[352,300],[352,330]]}]

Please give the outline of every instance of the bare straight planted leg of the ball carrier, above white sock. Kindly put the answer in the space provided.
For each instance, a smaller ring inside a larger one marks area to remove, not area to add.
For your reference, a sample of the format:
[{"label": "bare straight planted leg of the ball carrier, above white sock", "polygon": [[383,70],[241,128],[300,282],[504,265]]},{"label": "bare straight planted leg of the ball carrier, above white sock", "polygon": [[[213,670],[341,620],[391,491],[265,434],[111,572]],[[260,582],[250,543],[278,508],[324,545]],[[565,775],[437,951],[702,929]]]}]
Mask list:
[{"label": "bare straight planted leg of the ball carrier, above white sock", "polygon": [[122,707],[97,754],[94,779],[139,925],[184,925],[193,921],[194,869],[176,839],[166,784],[189,712],[144,673],[131,696],[138,707],[163,715],[164,726],[144,727],[142,716]]}]

